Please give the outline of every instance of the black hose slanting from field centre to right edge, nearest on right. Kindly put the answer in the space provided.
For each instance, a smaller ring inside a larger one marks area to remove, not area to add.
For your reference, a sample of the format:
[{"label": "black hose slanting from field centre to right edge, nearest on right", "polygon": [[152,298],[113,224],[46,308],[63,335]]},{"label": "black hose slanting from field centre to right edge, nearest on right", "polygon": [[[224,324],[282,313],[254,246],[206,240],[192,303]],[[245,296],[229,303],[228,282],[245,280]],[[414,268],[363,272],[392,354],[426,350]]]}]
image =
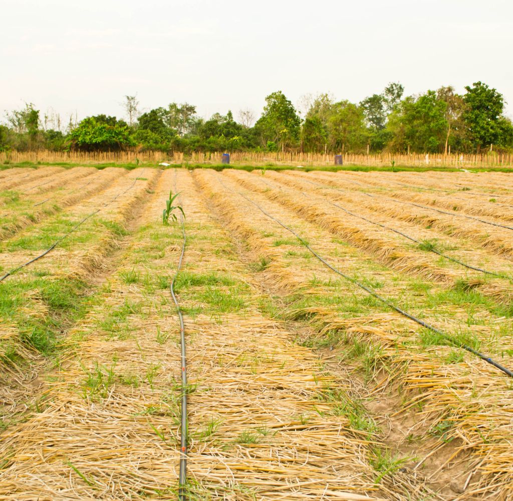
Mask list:
[{"label": "black hose slanting from field centre to right edge, nearest on right", "polygon": [[226,188],[228,189],[229,191],[233,192],[233,193],[239,193],[239,195],[241,195],[243,198],[245,198],[248,202],[250,202],[251,204],[253,204],[255,207],[257,207],[261,212],[263,212],[267,217],[269,217],[270,219],[272,219],[274,222],[278,223],[280,226],[282,226],[283,228],[285,228],[286,230],[290,231],[290,233],[292,233],[296,238],[298,238],[298,240],[315,256],[317,257],[324,265],[326,265],[330,270],[334,271],[335,273],[339,274],[340,276],[344,277],[346,280],[348,280],[349,282],[351,282],[352,284],[354,285],[357,285],[358,287],[360,287],[361,289],[363,289],[364,291],[368,292],[371,296],[375,297],[376,299],[380,300],[383,304],[385,304],[386,306],[388,306],[389,308],[391,308],[392,310],[394,311],[397,311],[398,313],[400,313],[401,315],[405,316],[406,318],[409,318],[410,320],[413,320],[413,322],[416,322],[417,324],[421,325],[422,327],[430,330],[431,332],[435,332],[436,334],[440,335],[441,337],[443,337],[444,339],[447,340],[447,342],[449,342],[452,346],[455,346],[457,348],[463,348],[464,350],[478,356],[479,358],[481,358],[482,360],[484,360],[485,362],[487,362],[488,364],[496,367],[497,369],[499,369],[500,371],[504,372],[504,374],[508,375],[509,377],[513,377],[513,372],[510,371],[509,369],[507,369],[506,367],[502,366],[501,364],[499,364],[498,362],[495,362],[495,360],[491,359],[489,356],[487,355],[484,355],[483,353],[480,353],[479,351],[471,348],[470,346],[468,345],[465,345],[463,343],[457,343],[454,339],[452,339],[452,337],[450,337],[448,334],[446,334],[445,332],[442,332],[441,330],[437,329],[436,327],[433,327],[432,325],[428,324],[427,322],[424,322],[424,320],[421,320],[420,318],[417,318],[416,316],[413,316],[413,315],[410,315],[409,313],[407,313],[406,311],[402,310],[401,308],[398,308],[397,306],[393,305],[392,303],[388,302],[387,299],[385,299],[384,297],[380,296],[377,292],[374,292],[372,289],[369,289],[368,287],[366,287],[365,285],[361,284],[360,282],[358,282],[358,280],[354,279],[354,278],[351,278],[350,276],[342,273],[340,270],[338,270],[337,268],[333,267],[332,265],[330,265],[322,256],[320,256],[317,252],[315,252],[305,241],[304,239],[298,234],[296,233],[294,230],[292,230],[291,228],[289,228],[287,225],[285,225],[284,223],[282,223],[281,221],[279,221],[277,218],[275,218],[274,216],[271,216],[268,212],[265,211],[265,209],[263,209],[259,204],[257,204],[256,202],[253,202],[250,198],[248,198],[246,195],[244,195],[243,193],[241,193],[240,191],[238,192],[235,192],[234,190],[228,188],[221,180],[220,180],[220,183]]}]

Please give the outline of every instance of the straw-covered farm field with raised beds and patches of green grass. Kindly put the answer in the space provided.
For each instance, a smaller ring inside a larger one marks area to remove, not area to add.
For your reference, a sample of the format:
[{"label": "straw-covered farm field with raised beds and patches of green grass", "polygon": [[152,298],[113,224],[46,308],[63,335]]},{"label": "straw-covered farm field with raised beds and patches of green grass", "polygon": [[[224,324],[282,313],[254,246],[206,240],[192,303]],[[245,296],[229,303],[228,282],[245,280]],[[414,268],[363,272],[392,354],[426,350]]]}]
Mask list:
[{"label": "straw-covered farm field with raised beds and patches of green grass", "polygon": [[512,232],[499,172],[0,171],[0,499],[513,499]]}]

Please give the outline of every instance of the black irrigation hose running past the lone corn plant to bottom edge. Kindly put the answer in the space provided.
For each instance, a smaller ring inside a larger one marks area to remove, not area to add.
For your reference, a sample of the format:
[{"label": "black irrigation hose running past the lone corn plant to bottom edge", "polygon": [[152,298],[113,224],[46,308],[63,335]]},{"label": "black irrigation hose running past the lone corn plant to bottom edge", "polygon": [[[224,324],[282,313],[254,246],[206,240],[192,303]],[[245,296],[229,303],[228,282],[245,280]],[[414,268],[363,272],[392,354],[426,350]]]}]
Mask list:
[{"label": "black irrigation hose running past the lone corn plant to bottom edge", "polygon": [[[174,188],[176,191],[176,169],[174,170]],[[188,442],[188,424],[187,424],[187,359],[185,353],[185,327],[184,327],[184,318],[182,316],[182,310],[180,309],[180,305],[178,304],[178,300],[174,294],[174,282],[180,273],[180,268],[182,267],[182,261],[184,259],[185,246],[187,243],[187,236],[185,234],[185,223],[184,216],[180,213],[180,222],[182,224],[182,235],[184,238],[184,243],[182,245],[182,253],[180,254],[180,259],[178,261],[178,266],[176,267],[176,273],[171,280],[171,285],[169,287],[171,291],[171,296],[173,298],[174,306],[176,307],[176,311],[178,313],[178,317],[180,319],[180,345],[182,349],[181,354],[181,367],[182,367],[182,410],[181,410],[181,433],[180,433],[180,477],[179,477],[179,492],[178,498],[180,501],[186,499],[185,492],[185,484],[187,480],[187,442]]]}]

